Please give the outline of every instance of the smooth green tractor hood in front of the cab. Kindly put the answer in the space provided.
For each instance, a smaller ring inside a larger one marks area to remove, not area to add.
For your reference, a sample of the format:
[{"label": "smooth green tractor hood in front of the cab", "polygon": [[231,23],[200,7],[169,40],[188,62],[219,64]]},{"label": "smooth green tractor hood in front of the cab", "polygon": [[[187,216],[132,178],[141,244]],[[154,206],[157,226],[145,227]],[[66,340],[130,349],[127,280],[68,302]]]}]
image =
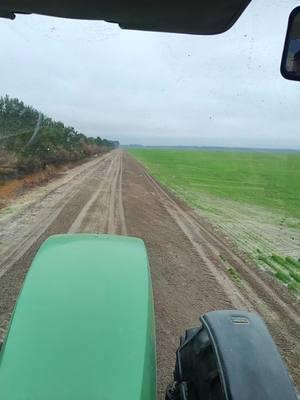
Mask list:
[{"label": "smooth green tractor hood in front of the cab", "polygon": [[153,400],[142,240],[57,235],[38,251],[0,352],[1,400]]}]

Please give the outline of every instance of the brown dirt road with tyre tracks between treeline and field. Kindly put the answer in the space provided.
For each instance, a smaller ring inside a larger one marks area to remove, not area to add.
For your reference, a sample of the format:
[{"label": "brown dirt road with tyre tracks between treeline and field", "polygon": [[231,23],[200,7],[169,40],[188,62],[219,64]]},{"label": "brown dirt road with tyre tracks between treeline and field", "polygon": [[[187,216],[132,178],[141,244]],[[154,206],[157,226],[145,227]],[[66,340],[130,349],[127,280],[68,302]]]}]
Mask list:
[{"label": "brown dirt road with tyre tracks between treeline and field", "polygon": [[[40,244],[51,234],[117,233],[144,239],[156,312],[158,391],[171,379],[178,338],[200,314],[220,308],[259,312],[300,386],[299,304],[245,261],[208,222],[117,150],[34,189],[0,213],[0,335]],[[234,281],[228,268],[240,279]]]}]

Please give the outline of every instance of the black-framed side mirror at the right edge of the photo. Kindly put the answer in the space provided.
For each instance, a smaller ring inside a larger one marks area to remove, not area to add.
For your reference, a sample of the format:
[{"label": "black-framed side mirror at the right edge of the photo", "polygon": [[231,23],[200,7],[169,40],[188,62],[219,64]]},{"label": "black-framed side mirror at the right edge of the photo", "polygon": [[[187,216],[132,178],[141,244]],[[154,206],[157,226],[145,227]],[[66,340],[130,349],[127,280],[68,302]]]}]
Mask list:
[{"label": "black-framed side mirror at the right edge of the photo", "polygon": [[285,79],[300,81],[300,7],[290,14],[280,71]]}]

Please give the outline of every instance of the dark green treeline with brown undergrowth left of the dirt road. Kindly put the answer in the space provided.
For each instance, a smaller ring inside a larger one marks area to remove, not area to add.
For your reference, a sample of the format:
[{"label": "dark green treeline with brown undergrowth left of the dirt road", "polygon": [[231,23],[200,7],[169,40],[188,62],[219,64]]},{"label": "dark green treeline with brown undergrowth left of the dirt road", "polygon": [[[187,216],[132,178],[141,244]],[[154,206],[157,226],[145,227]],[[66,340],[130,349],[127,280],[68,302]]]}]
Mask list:
[{"label": "dark green treeline with brown undergrowth left of the dirt road", "polygon": [[87,137],[9,96],[0,97],[0,170],[32,172],[77,161],[118,147],[117,141]]}]

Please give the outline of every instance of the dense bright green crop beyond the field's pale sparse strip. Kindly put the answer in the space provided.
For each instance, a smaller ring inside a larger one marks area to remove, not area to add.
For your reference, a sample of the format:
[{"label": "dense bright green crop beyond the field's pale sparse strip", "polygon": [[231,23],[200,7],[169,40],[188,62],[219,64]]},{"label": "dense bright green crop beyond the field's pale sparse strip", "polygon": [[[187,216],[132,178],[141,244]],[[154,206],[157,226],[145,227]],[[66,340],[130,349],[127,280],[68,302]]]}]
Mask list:
[{"label": "dense bright green crop beyond the field's pale sparse strip", "polygon": [[300,218],[300,153],[129,149],[160,182]]}]

